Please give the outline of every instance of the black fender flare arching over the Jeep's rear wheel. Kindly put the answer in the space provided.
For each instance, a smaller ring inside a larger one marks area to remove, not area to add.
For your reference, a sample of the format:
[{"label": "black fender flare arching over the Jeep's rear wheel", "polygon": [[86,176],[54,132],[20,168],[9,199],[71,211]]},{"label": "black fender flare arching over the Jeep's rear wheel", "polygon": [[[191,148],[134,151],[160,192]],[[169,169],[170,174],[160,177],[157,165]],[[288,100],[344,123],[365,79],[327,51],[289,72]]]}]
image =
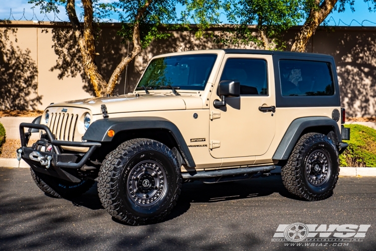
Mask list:
[{"label": "black fender flare arching over the Jeep's rear wheel", "polygon": [[291,122],[272,159],[287,160],[305,129],[322,126],[332,127],[336,137],[335,141],[338,143],[342,142],[338,124],[332,118],[324,116],[301,117]]}]

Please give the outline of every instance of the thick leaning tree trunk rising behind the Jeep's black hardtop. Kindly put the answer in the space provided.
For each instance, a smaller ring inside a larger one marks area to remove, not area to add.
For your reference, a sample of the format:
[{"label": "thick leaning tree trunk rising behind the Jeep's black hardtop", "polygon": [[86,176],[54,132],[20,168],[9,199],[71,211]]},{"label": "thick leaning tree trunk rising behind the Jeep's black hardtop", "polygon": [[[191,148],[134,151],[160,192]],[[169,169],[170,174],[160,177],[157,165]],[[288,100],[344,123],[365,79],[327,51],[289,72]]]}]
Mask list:
[{"label": "thick leaning tree trunk rising behind the Jeep's black hardtop", "polygon": [[317,27],[326,19],[338,0],[324,0],[320,5],[320,0],[315,0],[317,8],[311,9],[308,18],[300,31],[295,36],[295,42],[291,51],[305,52],[305,47],[309,39],[315,33]]}]

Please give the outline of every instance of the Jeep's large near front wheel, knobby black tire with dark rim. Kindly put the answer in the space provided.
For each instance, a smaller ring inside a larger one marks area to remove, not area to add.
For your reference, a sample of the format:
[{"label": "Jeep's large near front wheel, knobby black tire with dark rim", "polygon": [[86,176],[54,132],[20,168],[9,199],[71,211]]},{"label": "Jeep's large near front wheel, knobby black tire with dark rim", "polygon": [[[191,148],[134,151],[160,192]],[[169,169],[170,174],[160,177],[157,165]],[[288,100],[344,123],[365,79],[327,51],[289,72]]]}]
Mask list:
[{"label": "Jeep's large near front wheel, knobby black tire with dark rim", "polygon": [[98,193],[103,207],[130,225],[155,223],[176,204],[180,167],[172,151],[149,139],[126,141],[102,162]]}]

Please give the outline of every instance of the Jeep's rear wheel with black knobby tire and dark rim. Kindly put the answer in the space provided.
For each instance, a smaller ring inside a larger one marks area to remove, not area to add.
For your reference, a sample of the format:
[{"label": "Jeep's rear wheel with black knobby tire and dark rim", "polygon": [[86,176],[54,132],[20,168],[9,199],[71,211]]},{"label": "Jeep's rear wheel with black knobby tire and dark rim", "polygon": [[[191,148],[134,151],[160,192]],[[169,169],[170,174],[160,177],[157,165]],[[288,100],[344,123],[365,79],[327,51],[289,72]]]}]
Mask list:
[{"label": "Jeep's rear wheel with black knobby tire and dark rim", "polygon": [[282,167],[282,181],[296,196],[310,201],[326,199],[333,194],[338,166],[338,151],[331,139],[317,133],[305,134]]}]

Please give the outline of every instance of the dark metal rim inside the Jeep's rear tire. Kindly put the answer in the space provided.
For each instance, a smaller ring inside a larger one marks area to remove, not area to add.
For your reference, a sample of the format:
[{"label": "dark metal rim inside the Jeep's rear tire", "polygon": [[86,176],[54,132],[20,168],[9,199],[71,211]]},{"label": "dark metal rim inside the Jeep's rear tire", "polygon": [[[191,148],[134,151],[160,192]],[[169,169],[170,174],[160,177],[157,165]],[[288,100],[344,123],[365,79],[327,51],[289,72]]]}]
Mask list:
[{"label": "dark metal rim inside the Jeep's rear tire", "polygon": [[307,157],[305,175],[310,184],[322,185],[330,176],[331,164],[329,154],[321,149],[313,151]]}]

